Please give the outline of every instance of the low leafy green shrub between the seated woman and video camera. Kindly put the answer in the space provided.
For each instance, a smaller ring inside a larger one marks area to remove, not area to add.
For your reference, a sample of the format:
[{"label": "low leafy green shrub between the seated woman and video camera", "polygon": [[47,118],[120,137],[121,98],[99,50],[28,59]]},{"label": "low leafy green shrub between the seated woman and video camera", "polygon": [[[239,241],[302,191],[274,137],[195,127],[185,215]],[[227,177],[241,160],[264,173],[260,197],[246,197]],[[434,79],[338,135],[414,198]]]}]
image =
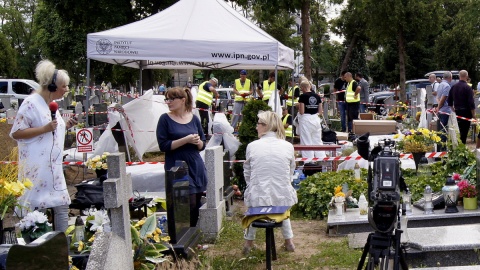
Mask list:
[{"label": "low leafy green shrub between the seated woman and video camera", "polygon": [[[362,175],[366,176],[367,171],[362,169]],[[367,182],[355,181],[353,170],[316,173],[300,182],[300,189],[297,191],[298,203],[293,207],[293,211],[311,219],[328,216],[328,204],[334,195],[334,189],[344,183],[353,191],[354,198],[360,197],[362,193],[367,196]]]}]

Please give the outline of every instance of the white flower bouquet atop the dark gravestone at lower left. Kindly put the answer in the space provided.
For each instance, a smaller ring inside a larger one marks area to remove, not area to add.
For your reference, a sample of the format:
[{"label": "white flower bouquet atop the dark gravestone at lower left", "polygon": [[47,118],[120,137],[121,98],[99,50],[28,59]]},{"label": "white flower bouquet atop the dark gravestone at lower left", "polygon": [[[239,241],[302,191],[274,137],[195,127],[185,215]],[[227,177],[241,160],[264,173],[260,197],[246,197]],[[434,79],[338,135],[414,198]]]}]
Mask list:
[{"label": "white flower bouquet atop the dark gravestone at lower left", "polygon": [[29,212],[16,226],[20,228],[27,244],[52,231],[52,224],[48,223],[47,216],[37,210]]}]

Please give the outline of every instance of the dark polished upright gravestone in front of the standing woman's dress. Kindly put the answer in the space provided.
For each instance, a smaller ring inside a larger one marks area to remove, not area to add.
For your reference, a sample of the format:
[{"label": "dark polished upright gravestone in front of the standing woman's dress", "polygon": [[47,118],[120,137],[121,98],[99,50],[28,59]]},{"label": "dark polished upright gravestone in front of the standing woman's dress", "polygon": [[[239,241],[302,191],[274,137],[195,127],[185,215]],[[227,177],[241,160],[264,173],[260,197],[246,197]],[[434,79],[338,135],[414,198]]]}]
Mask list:
[{"label": "dark polished upright gravestone in front of the standing woman's dress", "polygon": [[175,166],[166,171],[168,235],[175,254],[180,257],[189,257],[200,237],[198,229],[190,227],[189,179],[185,161],[176,161]]}]

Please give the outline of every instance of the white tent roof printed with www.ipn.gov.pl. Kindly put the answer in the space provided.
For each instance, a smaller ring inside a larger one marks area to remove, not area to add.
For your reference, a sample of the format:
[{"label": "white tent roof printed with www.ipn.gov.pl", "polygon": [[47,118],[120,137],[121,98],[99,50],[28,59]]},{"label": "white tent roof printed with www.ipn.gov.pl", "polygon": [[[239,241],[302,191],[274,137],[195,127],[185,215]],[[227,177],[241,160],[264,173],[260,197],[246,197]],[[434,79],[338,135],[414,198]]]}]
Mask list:
[{"label": "white tent roof printed with www.ipn.gov.pl", "polygon": [[293,69],[293,50],[224,0],[180,0],[164,11],[87,35],[87,57],[134,68]]}]

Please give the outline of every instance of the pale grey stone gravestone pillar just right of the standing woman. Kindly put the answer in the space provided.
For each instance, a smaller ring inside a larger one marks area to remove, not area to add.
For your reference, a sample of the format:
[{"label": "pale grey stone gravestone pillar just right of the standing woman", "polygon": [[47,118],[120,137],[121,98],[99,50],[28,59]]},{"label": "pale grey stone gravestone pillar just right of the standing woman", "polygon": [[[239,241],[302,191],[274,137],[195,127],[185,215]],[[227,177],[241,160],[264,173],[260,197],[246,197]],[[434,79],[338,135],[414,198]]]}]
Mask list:
[{"label": "pale grey stone gravestone pillar just right of the standing woman", "polygon": [[200,207],[199,227],[206,241],[217,238],[225,217],[223,194],[223,148],[214,146],[205,150],[207,168],[207,203]]}]

